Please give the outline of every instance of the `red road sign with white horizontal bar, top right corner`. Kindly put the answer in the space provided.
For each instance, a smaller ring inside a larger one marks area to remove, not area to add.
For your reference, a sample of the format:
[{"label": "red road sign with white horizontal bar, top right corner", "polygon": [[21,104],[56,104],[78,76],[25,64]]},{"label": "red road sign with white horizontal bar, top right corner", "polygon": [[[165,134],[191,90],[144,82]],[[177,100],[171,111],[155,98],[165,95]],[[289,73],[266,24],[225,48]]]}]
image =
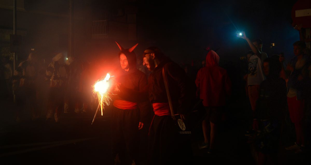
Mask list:
[{"label": "red road sign with white horizontal bar, top right corner", "polygon": [[311,28],[311,1],[298,0],[292,8],[291,16],[295,25]]}]

